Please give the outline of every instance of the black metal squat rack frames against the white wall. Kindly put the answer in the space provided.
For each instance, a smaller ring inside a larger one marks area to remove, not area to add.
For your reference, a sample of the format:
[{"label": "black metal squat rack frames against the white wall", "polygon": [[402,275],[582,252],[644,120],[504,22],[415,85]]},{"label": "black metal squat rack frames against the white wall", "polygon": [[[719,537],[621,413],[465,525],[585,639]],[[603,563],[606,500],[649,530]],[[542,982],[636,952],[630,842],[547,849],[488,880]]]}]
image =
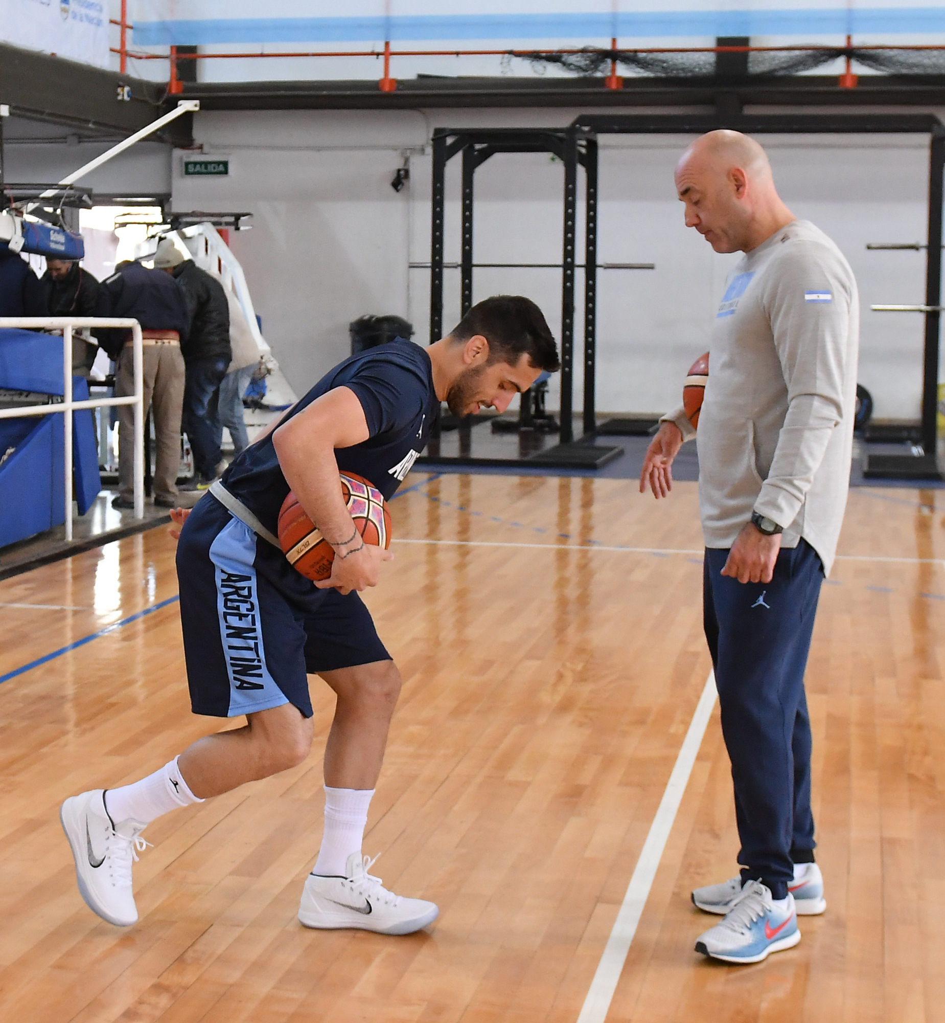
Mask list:
[{"label": "black metal squat rack frames against the white wall", "polygon": [[[932,114],[599,114],[584,115],[561,129],[439,128],[433,136],[433,231],[431,248],[431,342],[443,333],[443,241],[446,165],[462,153],[461,311],[472,304],[472,179],[476,169],[497,152],[550,152],[565,166],[561,256],[561,396],[559,443],[527,458],[440,456],[433,438],[421,463],[502,464],[597,469],[620,454],[619,447],[595,447],[597,314],[597,137],[602,134],[701,135],[718,128],[758,134],[928,134],[930,136],[929,219],[926,248],[926,302],[910,311],[925,316],[921,444],[902,454],[868,454],[864,475],[886,479],[940,479],[937,448],[939,341],[942,299],[942,205],[945,124]],[[578,167],[586,178],[584,236],[584,395],[583,436],[574,437],[575,272],[577,262]],[[482,264],[485,265],[485,264]],[[512,265],[512,264],[509,264]],[[545,264],[542,264],[545,265]],[[557,264],[547,264],[557,266]],[[604,264],[604,267],[608,265]],[[649,264],[613,264],[615,269],[651,269]],[[466,428],[468,429],[468,428]]]}]

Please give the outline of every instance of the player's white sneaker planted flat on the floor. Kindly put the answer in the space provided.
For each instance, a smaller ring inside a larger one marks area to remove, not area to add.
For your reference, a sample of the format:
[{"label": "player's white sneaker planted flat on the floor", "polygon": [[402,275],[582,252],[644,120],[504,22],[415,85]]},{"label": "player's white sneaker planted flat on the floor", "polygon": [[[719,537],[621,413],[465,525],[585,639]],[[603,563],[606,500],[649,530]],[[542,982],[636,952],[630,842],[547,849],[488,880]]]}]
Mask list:
[{"label": "player's white sneaker planted flat on the floor", "polygon": [[437,904],[389,892],[380,878],[367,873],[376,858],[365,856],[362,860],[359,852],[353,852],[344,878],[310,874],[302,893],[299,922],[322,930],[350,927],[378,934],[412,934],[432,924],[440,916]]}]

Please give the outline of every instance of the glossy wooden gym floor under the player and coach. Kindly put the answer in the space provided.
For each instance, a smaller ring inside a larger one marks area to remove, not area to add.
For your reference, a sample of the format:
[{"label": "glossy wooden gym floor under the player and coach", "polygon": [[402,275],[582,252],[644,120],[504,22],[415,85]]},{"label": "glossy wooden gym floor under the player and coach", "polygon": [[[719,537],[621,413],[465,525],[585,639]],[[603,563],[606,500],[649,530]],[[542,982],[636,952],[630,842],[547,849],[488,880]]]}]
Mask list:
[{"label": "glossy wooden gym floor under the player and coach", "polygon": [[608,1004],[645,1023],[945,1020],[945,493],[850,495],[808,671],[828,909],[797,948],[726,967],[692,951],[715,919],[688,899],[737,848],[717,708],[704,737],[690,727],[709,672],[695,485],[659,504],[618,480],[408,487],[368,595],[405,686],[365,851],[439,902],[434,928],[296,920],[321,833],[317,679],[306,764],[148,828],[136,927],[85,907],[61,800],[224,724],[189,713],[174,544],[155,529],[0,583],[0,1020],[574,1023],[661,800],[672,827],[644,852],[639,926],[583,1023]]}]

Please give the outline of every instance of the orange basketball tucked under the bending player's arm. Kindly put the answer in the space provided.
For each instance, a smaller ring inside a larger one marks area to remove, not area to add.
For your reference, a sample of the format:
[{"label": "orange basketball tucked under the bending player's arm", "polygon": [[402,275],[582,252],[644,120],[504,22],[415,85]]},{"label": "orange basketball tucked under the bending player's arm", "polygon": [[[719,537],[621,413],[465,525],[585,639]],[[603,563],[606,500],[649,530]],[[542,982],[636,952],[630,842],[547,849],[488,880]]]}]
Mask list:
[{"label": "orange basketball tucked under the bending player's arm", "polygon": [[[391,546],[391,513],[379,490],[363,476],[342,473],[342,493],[351,518],[365,543]],[[321,581],[331,575],[334,548],[306,515],[289,491],[279,509],[279,543],[289,565],[307,579]]]}]

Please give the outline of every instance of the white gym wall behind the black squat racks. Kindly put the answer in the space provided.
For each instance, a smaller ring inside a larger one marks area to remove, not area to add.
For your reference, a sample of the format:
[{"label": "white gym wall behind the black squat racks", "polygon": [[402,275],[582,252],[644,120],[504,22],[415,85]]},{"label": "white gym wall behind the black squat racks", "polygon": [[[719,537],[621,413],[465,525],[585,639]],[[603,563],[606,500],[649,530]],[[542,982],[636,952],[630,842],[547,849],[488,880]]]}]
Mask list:
[{"label": "white gym wall behind the black squat racks", "polygon": [[[232,246],[266,338],[301,393],[347,354],[347,325],[364,313],[405,315],[425,340],[429,272],[408,270],[407,264],[430,258],[426,143],[433,127],[564,126],[577,113],[201,113],[196,141],[208,154],[229,159],[230,176],[184,178],[183,154],[175,153],[174,208],[254,213],[254,229],[231,235]],[[921,301],[924,256],[867,253],[865,244],[921,240],[926,140],[763,141],[785,201],[838,241],[857,274],[864,310],[859,376],[873,393],[876,415],[917,416],[921,317],[870,313],[868,306]],[[599,259],[657,264],[651,272],[600,272],[602,410],[658,411],[676,403],[686,368],[707,348],[733,262],[716,256],[682,224],[672,169],[685,142],[667,136],[601,139]],[[411,181],[398,194],[390,181],[405,159]],[[458,176],[456,160],[448,178],[448,260],[459,255]],[[477,172],[477,260],[559,260],[561,178],[561,165],[547,155],[503,154],[485,164]],[[559,330],[556,271],[478,271],[475,298],[497,292],[529,295]],[[458,272],[447,271],[447,327],[458,310]]]}]

